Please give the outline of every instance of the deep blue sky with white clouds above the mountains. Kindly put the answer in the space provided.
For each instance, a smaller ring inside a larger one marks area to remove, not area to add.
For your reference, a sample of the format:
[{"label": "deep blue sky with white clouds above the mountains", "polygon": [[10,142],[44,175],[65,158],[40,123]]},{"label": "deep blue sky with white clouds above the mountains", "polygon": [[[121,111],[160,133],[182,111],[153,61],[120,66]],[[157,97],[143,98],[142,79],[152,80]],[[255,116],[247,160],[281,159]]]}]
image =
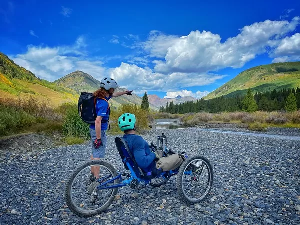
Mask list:
[{"label": "deep blue sky with white clouds above the mountains", "polygon": [[49,81],[82,70],[160,97],[201,98],[247,68],[300,61],[296,0],[90,2],[0,0],[0,51]]}]

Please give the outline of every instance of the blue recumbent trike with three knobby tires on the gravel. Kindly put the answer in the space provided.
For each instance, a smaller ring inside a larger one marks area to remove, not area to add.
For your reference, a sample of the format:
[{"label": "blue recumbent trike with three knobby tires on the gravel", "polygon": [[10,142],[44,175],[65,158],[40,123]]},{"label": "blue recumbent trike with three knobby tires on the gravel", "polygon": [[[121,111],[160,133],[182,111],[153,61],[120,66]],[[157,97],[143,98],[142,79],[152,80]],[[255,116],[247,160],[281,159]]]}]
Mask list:
[{"label": "blue recumbent trike with three knobby tires on the gravel", "polygon": [[[213,171],[205,157],[188,157],[185,152],[181,152],[179,156],[184,161],[176,170],[158,169],[144,173],[124,139],[116,137],[115,143],[127,171],[116,172],[111,164],[102,160],[89,161],[76,169],[67,181],[64,193],[66,203],[74,213],[86,217],[96,215],[112,203],[119,187],[128,185],[133,189],[141,189],[148,184],[157,187],[166,183],[173,175],[178,175],[176,186],[183,201],[199,203],[208,195],[213,182]],[[150,149],[162,157],[175,153],[168,148],[167,137],[163,133],[157,136],[157,145],[151,143]],[[100,171],[99,176],[90,176],[93,166]]]}]

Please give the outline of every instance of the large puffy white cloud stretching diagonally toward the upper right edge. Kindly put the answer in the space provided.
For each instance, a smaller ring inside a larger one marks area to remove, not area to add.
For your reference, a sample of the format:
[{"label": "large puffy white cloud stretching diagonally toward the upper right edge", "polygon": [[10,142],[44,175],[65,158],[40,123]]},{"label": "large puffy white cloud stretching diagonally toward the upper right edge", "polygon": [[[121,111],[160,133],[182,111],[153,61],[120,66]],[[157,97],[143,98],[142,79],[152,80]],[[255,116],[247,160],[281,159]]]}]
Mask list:
[{"label": "large puffy white cloud stretching diagonally toward the upper right edge", "polygon": [[156,63],[155,71],[190,73],[240,68],[257,55],[267,52],[269,47],[275,47],[283,37],[295,30],[299,20],[299,17],[294,17],[291,22],[257,22],[243,27],[237,36],[225,42],[221,42],[220,35],[210,31],[192,31],[167,48],[164,61],[153,61]]}]

